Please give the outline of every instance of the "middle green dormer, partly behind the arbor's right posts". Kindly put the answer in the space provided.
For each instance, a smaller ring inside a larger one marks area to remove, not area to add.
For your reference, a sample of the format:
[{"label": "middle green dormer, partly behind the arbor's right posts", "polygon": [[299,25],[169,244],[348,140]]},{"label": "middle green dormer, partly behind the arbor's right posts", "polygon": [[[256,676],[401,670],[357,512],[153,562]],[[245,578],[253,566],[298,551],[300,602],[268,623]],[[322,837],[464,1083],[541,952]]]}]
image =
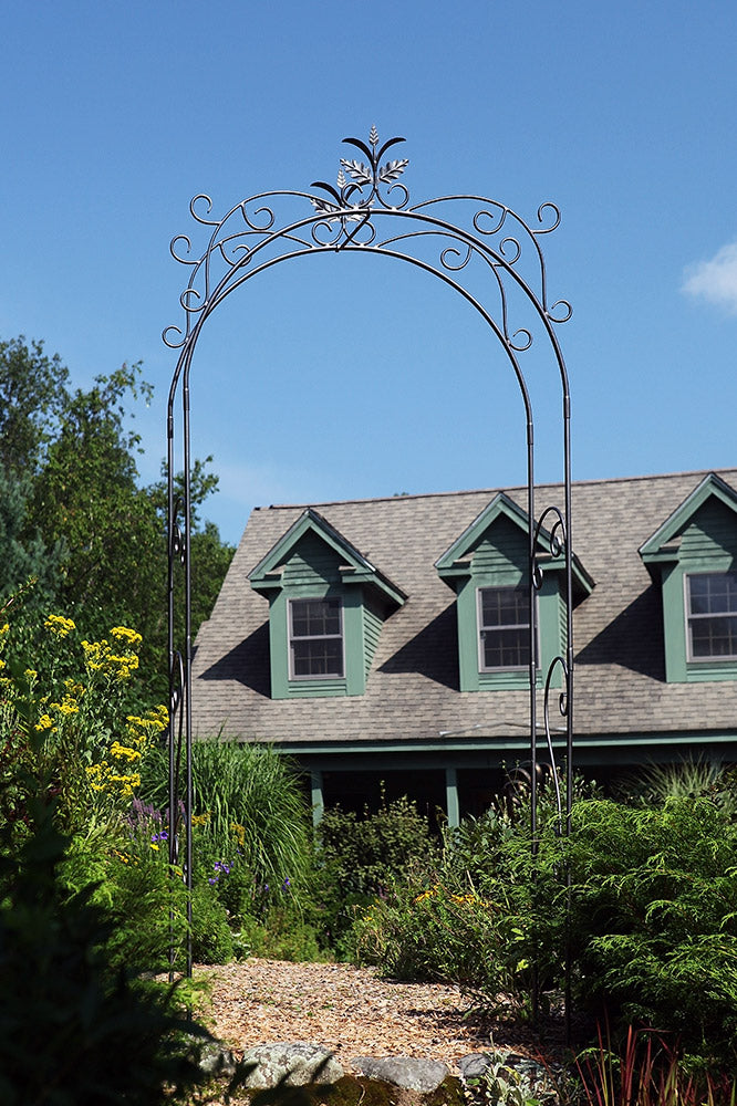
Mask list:
[{"label": "middle green dormer, partly behind the arbor's right posts", "polygon": [[[536,556],[542,582],[536,592],[537,682],[553,658],[565,650],[564,555],[541,529]],[[529,687],[530,559],[527,513],[500,492],[440,556],[435,568],[457,596],[458,664],[461,691]],[[593,580],[573,561],[578,599]],[[562,679],[557,667],[552,686]]]}]

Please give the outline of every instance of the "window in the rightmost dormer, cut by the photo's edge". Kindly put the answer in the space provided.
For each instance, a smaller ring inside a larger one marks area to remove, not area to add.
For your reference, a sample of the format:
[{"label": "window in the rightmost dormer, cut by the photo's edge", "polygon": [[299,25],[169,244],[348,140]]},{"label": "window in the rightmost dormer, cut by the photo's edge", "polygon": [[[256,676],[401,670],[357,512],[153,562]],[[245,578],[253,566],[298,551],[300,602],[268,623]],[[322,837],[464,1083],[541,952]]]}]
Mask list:
[{"label": "window in the rightmost dormer, cut by the photo's edge", "polygon": [[688,659],[737,659],[737,572],[686,576]]}]

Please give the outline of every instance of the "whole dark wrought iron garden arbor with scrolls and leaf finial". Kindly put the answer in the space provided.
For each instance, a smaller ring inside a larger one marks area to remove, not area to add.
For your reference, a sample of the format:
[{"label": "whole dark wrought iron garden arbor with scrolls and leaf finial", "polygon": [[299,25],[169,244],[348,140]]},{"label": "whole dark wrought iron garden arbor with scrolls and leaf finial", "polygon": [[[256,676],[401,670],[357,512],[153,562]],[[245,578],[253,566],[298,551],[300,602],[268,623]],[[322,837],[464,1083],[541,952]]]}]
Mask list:
[{"label": "whole dark wrought iron garden arbor with scrolls and leaf finial", "polygon": [[[571,440],[568,374],[556,327],[570,319],[564,300],[549,302],[540,239],[560,222],[553,204],[543,204],[529,225],[511,208],[474,195],[451,195],[412,204],[402,180],[406,158],[386,158],[404,142],[380,143],[375,127],[369,142],[345,138],[361,157],[344,157],[335,186],[315,181],[312,191],[259,192],[241,200],[221,219],[210,218],[211,200],[196,196],[191,216],[206,228],[200,253],[188,236],[170,250],[189,269],[180,295],[184,326],[169,326],[164,342],[178,349],[167,414],[168,465],[168,651],[169,651],[169,812],[172,865],[180,865],[191,889],[191,573],[190,573],[190,425],[189,374],[197,341],[211,313],[232,292],[260,273],[293,258],[322,253],[381,254],[407,262],[443,281],[480,314],[504,351],[519,386],[527,435],[527,514],[530,597],[529,734],[532,830],[537,830],[539,733],[553,766],[561,831],[570,831],[573,752],[573,635],[571,545]],[[353,153],[353,152],[352,152]],[[386,159],[385,159],[386,158]],[[513,321],[515,320],[515,321]],[[519,321],[520,325],[516,325]],[[542,344],[560,377],[563,455],[563,501],[538,509],[534,484],[534,424],[523,372],[525,354]],[[181,401],[180,440],[175,434],[175,406]],[[175,473],[184,469],[181,493]],[[546,528],[551,552],[564,557],[565,648],[544,674],[536,662],[536,592],[542,584],[539,538]],[[175,583],[184,574],[184,640],[175,640]],[[551,738],[552,684],[562,675],[558,707],[565,720],[565,786],[556,769]],[[543,682],[539,722],[538,677]],[[188,956],[188,967],[191,958]]]}]

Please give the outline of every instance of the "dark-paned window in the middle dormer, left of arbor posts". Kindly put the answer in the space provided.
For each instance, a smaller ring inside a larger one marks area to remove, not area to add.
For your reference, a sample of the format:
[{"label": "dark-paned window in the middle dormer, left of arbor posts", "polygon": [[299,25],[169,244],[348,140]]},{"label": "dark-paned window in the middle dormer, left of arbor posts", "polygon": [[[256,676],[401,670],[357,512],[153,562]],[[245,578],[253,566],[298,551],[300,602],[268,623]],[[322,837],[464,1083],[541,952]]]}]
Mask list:
[{"label": "dark-paned window in the middle dormer, left of arbor posts", "polygon": [[530,662],[530,596],[525,587],[479,587],[479,671]]}]

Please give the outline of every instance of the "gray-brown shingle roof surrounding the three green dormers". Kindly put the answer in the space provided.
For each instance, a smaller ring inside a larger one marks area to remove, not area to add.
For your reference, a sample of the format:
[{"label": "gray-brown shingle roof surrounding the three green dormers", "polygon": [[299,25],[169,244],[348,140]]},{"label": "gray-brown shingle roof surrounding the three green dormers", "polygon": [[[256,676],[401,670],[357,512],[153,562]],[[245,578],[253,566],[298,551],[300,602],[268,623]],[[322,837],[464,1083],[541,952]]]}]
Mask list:
[{"label": "gray-brown shingle roof surrounding the three green dormers", "polygon": [[[737,488],[737,469],[718,473]],[[637,554],[704,472],[582,481],[573,547],[595,581],[574,612],[577,734],[734,731],[737,681],[666,684],[660,589]],[[212,616],[198,635],[193,718],[200,735],[313,744],[525,732],[527,691],[458,690],[455,597],[434,567],[500,489],[310,504],[407,595],[384,625],[359,697],[271,700],[268,603],[248,574],[305,505],[256,509]],[[505,489],[522,508],[523,489]],[[538,515],[562,505],[538,487]]]}]

